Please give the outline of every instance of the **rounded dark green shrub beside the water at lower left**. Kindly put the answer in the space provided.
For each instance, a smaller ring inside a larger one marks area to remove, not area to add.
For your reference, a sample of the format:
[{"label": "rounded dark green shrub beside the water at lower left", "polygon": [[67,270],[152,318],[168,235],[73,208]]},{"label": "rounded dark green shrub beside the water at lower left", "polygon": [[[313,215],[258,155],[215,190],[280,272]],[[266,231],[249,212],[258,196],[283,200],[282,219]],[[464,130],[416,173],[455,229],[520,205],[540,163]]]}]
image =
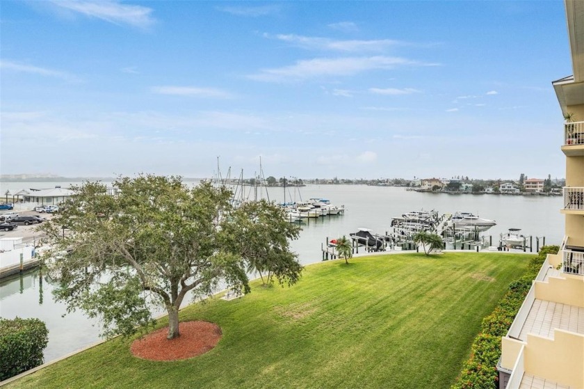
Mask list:
[{"label": "rounded dark green shrub beside the water at lower left", "polygon": [[0,319],[0,381],[42,365],[49,331],[39,319]]}]

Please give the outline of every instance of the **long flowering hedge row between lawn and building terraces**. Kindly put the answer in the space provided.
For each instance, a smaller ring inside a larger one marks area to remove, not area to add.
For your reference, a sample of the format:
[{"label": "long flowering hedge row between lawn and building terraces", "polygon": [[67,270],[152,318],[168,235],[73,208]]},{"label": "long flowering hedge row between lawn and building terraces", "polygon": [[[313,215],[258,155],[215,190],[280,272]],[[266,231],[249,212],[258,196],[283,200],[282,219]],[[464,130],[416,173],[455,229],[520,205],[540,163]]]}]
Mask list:
[{"label": "long flowering hedge row between lawn and building terraces", "polygon": [[507,334],[515,315],[529,292],[532,280],[540,271],[548,253],[557,254],[559,246],[544,246],[533,257],[521,278],[509,285],[509,290],[498,302],[493,312],[482,319],[481,331],[471,347],[471,356],[451,389],[497,389],[497,362],[501,358],[501,337]]}]

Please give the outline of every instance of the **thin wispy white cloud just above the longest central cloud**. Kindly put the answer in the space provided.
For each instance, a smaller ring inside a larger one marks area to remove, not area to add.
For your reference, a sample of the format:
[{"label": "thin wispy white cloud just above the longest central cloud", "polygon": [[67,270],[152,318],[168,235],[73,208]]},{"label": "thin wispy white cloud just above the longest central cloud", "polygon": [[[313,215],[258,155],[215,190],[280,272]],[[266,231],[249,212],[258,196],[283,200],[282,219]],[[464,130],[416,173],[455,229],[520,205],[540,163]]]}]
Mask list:
[{"label": "thin wispy white cloud just above the longest central cloud", "polygon": [[345,52],[362,52],[362,51],[386,51],[389,47],[404,45],[398,40],[380,39],[380,40],[333,40],[330,38],[310,37],[295,34],[263,34],[266,38],[275,38],[284,42],[289,42],[297,47],[311,50],[331,50]]}]

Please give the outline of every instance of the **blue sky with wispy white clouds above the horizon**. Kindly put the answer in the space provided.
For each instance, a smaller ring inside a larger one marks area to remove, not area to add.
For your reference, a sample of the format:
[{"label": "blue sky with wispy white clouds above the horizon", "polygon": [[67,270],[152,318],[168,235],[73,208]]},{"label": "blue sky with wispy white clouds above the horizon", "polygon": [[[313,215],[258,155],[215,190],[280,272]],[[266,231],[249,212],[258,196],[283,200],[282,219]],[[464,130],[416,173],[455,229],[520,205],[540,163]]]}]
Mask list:
[{"label": "blue sky with wispy white clouds above the horizon", "polygon": [[10,1],[2,174],[563,177],[563,1]]}]

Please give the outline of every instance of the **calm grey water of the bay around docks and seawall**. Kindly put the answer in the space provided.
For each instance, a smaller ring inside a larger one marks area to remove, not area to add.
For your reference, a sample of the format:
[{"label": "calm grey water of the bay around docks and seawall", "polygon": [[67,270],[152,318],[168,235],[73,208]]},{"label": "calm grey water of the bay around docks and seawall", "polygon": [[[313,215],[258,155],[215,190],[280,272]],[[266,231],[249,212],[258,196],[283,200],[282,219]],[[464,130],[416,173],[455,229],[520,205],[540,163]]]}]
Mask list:
[{"label": "calm grey water of the bay around docks and seawall", "polygon": [[[20,189],[46,189],[68,182],[0,183],[0,193]],[[249,193],[250,188],[245,193]],[[253,197],[252,192],[252,197]],[[284,200],[282,188],[258,191],[258,197]],[[298,253],[302,264],[321,260],[321,244],[334,237],[348,235],[357,228],[371,228],[374,232],[390,231],[391,217],[414,210],[436,209],[440,213],[456,211],[473,212],[486,219],[494,219],[497,225],[486,234],[498,236],[508,228],[522,228],[524,235],[546,237],[546,244],[560,244],[563,238],[564,219],[560,214],[561,197],[496,196],[496,195],[447,195],[444,193],[417,193],[392,186],[361,185],[309,185],[294,190],[286,189],[286,201],[307,200],[312,197],[327,198],[334,205],[344,205],[344,216],[311,219],[303,223],[300,239],[291,246]],[[535,238],[534,238],[535,245]],[[38,271],[25,273],[0,283],[0,316],[6,318],[38,317],[49,328],[49,345],[45,360],[53,360],[99,340],[96,320],[86,318],[81,312],[65,314],[65,306],[52,299],[52,285],[41,279]]]}]

